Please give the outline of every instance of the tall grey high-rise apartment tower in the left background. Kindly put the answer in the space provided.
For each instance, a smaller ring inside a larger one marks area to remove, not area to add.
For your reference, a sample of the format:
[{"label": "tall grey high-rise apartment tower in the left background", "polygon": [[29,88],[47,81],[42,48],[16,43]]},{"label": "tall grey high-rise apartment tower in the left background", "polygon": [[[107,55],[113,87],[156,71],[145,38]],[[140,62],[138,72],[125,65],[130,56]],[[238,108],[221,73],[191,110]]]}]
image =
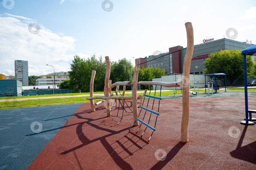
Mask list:
[{"label": "tall grey high-rise apartment tower in the left background", "polygon": [[28,86],[28,64],[27,61],[15,60],[15,79],[20,80],[22,85]]}]

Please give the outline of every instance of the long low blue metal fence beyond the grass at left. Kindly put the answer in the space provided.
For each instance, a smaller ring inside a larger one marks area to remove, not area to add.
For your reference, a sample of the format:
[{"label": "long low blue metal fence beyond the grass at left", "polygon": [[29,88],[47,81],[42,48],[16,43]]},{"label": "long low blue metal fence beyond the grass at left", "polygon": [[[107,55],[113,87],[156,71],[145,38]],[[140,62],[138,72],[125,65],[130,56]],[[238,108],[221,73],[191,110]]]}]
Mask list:
[{"label": "long low blue metal fence beyond the grass at left", "polygon": [[[58,89],[56,94],[72,93],[73,90],[70,89]],[[10,96],[34,96],[34,95],[44,95],[44,94],[54,94],[54,90],[33,90],[33,91],[23,91],[22,93],[2,93],[0,97],[10,97]]]}]

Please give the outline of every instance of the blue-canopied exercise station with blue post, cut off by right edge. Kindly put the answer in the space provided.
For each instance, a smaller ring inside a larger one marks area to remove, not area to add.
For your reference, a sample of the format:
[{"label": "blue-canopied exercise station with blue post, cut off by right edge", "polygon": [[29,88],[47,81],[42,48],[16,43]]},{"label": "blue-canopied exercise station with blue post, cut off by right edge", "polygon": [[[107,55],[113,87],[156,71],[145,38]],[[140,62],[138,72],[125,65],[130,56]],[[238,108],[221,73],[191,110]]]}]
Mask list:
[{"label": "blue-canopied exercise station with blue post, cut off by right edge", "polygon": [[[256,110],[248,110],[248,95],[247,95],[247,68],[246,68],[246,55],[253,55],[256,53],[256,45],[252,45],[244,49],[241,54],[243,55],[244,60],[244,95],[245,95],[245,121],[240,122],[242,125],[254,125],[256,121],[255,118],[252,117],[252,113],[256,113]],[[248,117],[249,113],[249,117]]]}]

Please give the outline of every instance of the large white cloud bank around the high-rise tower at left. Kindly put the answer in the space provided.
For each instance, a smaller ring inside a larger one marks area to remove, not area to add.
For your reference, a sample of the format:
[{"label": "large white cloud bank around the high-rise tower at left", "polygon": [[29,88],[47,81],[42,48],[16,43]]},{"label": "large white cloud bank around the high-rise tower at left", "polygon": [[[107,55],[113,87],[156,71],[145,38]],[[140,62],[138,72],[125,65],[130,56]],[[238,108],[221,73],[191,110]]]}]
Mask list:
[{"label": "large white cloud bank around the high-rise tower at left", "polygon": [[[1,70],[14,74],[14,60],[27,60],[29,75],[41,75],[46,64],[56,65],[55,71],[68,71],[74,52],[75,39],[61,33],[53,33],[40,25],[38,34],[31,34],[28,25],[33,19],[5,14],[0,16]],[[74,52],[75,53],[75,52]],[[12,71],[12,72],[11,72]]]}]

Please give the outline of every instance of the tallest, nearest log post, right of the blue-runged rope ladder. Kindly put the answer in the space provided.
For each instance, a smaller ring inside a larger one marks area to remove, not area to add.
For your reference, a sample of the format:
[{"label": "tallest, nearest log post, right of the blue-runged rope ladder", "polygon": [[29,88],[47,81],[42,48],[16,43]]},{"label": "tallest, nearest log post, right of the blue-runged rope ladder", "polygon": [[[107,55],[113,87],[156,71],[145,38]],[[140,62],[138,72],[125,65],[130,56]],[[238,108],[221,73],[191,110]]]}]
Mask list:
[{"label": "tallest, nearest log post, right of the blue-runged rope ladder", "polygon": [[189,73],[194,50],[194,33],[191,22],[185,23],[187,32],[187,50],[183,63],[183,91],[182,91],[182,119],[181,119],[181,142],[188,142],[189,121]]}]

